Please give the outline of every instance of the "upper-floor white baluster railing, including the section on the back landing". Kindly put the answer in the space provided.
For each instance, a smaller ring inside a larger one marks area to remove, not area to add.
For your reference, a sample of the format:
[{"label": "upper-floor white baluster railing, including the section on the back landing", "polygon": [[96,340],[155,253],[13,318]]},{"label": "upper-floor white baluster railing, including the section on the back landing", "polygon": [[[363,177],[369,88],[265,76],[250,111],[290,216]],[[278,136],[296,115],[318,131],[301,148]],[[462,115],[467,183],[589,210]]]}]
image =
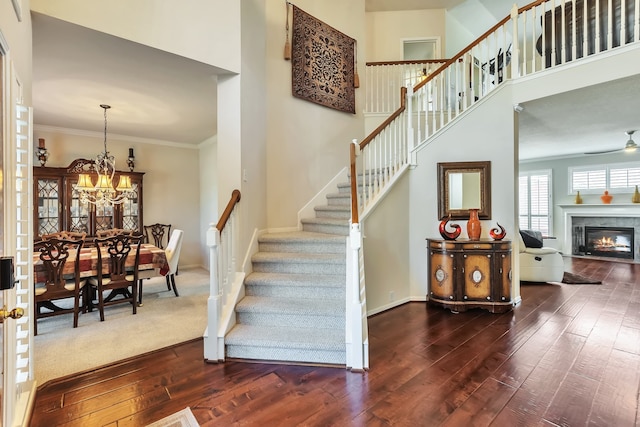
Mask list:
[{"label": "upper-floor white baluster railing, including the section on the back landing", "polygon": [[[427,137],[502,81],[637,42],[638,0],[538,0],[511,15],[448,60],[367,63],[367,113],[391,114],[401,86],[431,119]],[[422,89],[423,88],[423,89]],[[420,102],[422,104],[420,104]],[[437,117],[437,114],[442,117]]]}]

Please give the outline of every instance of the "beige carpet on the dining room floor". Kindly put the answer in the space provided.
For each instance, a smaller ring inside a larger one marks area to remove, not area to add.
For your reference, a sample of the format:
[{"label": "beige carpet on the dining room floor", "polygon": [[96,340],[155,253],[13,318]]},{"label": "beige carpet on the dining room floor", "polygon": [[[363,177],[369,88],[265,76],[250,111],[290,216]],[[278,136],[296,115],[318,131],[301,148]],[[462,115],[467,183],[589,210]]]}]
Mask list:
[{"label": "beige carpet on the dining room floor", "polygon": [[[179,297],[167,290],[164,277],[144,281],[143,305],[132,314],[129,304],[38,320],[34,337],[34,372],[38,384],[96,368],[138,354],[201,337],[207,323],[209,272],[180,269]],[[71,304],[73,304],[71,302]]]}]

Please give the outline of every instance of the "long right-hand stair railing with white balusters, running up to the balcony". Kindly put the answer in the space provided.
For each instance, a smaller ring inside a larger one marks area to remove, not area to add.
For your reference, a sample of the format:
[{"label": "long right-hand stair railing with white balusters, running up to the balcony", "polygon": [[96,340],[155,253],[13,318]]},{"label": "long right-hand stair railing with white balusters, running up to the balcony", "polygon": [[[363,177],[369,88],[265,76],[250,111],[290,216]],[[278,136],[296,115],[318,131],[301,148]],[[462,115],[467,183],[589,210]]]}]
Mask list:
[{"label": "long right-hand stair railing with white balusters, running up to the balcony", "polygon": [[[511,14],[415,86],[400,107],[362,142],[350,145],[351,225],[347,239],[347,366],[368,369],[366,288],[361,223],[411,163],[414,149],[507,79],[516,79],[638,42],[640,0],[538,0]],[[538,28],[538,25],[540,26]],[[376,66],[379,66],[376,64]],[[381,71],[378,70],[379,73]],[[405,71],[393,81],[404,78]],[[369,73],[367,73],[369,76]],[[375,80],[375,79],[373,79]],[[394,105],[378,87],[371,112]],[[391,86],[393,86],[393,82]]]}]

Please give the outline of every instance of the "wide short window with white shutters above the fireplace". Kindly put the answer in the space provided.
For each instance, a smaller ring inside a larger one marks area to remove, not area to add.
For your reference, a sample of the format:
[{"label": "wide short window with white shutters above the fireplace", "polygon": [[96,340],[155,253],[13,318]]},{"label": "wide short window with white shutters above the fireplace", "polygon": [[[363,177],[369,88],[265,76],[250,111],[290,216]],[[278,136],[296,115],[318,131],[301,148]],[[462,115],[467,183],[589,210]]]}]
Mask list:
[{"label": "wide short window with white shutters above the fireplace", "polygon": [[640,185],[640,163],[619,163],[569,168],[569,194],[632,193]]}]

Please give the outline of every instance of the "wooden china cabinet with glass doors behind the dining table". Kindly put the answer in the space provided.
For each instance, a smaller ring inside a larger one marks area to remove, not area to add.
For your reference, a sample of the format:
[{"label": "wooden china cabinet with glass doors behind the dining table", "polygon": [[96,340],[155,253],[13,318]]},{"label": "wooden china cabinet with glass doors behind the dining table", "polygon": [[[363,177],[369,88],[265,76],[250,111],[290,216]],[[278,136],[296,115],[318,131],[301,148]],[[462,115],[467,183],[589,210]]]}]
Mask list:
[{"label": "wooden china cabinet with glass doors behind the dining table", "polygon": [[116,171],[114,181],[120,175],[131,178],[134,197],[114,206],[96,206],[82,203],[74,186],[81,173],[91,175],[93,182],[97,173],[93,160],[76,159],[68,167],[33,167],[34,186],[34,238],[58,231],[84,231],[87,236],[110,228],[136,230],[142,234],[142,177],[144,172]]}]

